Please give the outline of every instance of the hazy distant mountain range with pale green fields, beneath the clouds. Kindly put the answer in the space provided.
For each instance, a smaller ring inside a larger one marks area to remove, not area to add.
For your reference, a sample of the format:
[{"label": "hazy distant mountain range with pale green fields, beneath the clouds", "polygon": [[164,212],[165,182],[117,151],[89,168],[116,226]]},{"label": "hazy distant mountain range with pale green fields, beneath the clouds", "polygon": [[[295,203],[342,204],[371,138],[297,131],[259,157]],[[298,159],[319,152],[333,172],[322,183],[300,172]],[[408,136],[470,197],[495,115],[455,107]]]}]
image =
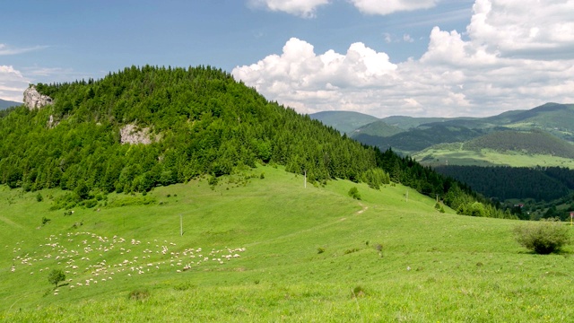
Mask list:
[{"label": "hazy distant mountain range with pale green fields, beneath the clouds", "polygon": [[[574,104],[546,103],[487,118],[375,118],[357,112],[326,111],[310,115],[363,144],[413,155],[419,161],[450,153],[574,157]],[[354,128],[353,128],[354,127]],[[429,153],[432,152],[432,153]],[[434,154],[434,156],[432,155]],[[563,161],[562,161],[563,162]],[[500,163],[500,162],[494,162]]]}]

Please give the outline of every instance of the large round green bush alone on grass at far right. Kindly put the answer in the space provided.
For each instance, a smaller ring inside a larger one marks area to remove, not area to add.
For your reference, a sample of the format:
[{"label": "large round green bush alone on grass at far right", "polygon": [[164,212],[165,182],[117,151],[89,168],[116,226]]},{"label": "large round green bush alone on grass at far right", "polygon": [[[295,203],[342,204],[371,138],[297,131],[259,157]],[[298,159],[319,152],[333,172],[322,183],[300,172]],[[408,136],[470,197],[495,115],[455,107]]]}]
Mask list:
[{"label": "large round green bush alone on grass at far right", "polygon": [[514,232],[518,243],[540,255],[559,251],[570,242],[568,227],[555,218],[518,225]]}]

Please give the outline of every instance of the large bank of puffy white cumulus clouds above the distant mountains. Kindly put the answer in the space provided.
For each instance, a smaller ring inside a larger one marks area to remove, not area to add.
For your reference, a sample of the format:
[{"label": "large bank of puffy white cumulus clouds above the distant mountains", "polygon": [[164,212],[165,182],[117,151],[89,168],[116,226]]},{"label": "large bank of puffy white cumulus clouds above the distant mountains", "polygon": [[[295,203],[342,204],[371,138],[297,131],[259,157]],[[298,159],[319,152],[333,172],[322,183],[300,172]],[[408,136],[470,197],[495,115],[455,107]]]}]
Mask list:
[{"label": "large bank of puffy white cumulus clouds above the distant mountains", "polygon": [[418,59],[393,64],[363,43],[346,53],[317,54],[293,38],[281,55],[237,66],[232,74],[301,113],[491,116],[574,102],[573,15],[574,0],[477,0],[466,31],[433,28]]}]

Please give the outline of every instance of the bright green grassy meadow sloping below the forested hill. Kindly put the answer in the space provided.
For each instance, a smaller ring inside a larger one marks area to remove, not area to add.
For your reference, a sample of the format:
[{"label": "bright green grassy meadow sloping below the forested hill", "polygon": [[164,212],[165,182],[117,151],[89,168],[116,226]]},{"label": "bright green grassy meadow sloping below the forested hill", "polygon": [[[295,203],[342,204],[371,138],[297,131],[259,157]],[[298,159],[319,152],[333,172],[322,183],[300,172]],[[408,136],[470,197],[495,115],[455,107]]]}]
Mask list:
[{"label": "bright green grassy meadow sloping below the forested hill", "polygon": [[[571,247],[535,255],[515,241],[517,221],[442,214],[401,185],[305,188],[266,166],[74,213],[50,210],[62,191],[39,193],[0,188],[0,321],[574,317]],[[56,289],[53,269],[65,271]]]}]

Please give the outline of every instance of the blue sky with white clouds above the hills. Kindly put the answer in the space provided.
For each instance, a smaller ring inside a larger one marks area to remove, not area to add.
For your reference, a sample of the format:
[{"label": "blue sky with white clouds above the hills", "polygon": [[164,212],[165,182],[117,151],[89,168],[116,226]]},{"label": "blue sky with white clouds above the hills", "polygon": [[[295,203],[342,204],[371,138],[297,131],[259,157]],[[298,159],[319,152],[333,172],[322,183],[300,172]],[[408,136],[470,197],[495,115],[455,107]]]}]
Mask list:
[{"label": "blue sky with white clouds above the hills", "polygon": [[0,99],[213,65],[301,113],[489,116],[574,102],[574,1],[3,1]]}]

